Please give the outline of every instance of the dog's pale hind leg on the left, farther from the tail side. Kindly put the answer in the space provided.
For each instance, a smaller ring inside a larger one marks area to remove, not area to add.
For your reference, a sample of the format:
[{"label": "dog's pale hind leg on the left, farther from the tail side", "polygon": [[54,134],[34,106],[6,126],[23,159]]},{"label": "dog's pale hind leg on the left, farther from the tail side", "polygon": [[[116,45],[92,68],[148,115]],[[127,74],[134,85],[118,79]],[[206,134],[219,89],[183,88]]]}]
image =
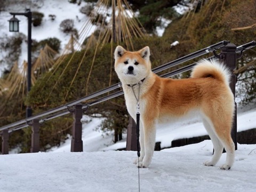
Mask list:
[{"label": "dog's pale hind leg on the left, farther from the tail side", "polygon": [[204,165],[206,166],[214,166],[220,159],[222,151],[223,151],[223,145],[221,143],[221,141],[219,140],[219,138],[217,137],[214,128],[213,128],[213,124],[210,122],[210,120],[206,120],[206,118],[203,119],[203,124],[204,127],[207,131],[207,133],[209,134],[212,144],[213,144],[213,148],[214,148],[214,153],[212,156],[212,159],[210,161],[206,161],[204,162]]}]

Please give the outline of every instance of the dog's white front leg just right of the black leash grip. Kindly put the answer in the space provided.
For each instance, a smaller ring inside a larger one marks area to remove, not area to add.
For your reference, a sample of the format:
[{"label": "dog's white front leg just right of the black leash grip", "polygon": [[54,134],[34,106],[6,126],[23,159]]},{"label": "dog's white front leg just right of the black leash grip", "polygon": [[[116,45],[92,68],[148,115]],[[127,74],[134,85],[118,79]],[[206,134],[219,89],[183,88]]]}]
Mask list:
[{"label": "dog's white front leg just right of the black leash grip", "polygon": [[140,162],[140,167],[148,167],[151,163],[154,149],[155,149],[155,140],[156,140],[156,126],[153,122],[142,122],[143,124],[143,161]]}]

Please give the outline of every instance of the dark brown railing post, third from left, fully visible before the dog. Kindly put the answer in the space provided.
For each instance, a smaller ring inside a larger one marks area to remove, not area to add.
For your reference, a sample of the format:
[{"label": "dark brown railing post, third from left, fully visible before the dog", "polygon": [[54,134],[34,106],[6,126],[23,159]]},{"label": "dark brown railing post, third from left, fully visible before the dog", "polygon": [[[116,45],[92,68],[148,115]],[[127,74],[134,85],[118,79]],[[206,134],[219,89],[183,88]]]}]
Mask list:
[{"label": "dark brown railing post, third from left, fully visible before the dog", "polygon": [[72,127],[72,140],[71,140],[71,152],[82,152],[83,141],[82,141],[82,119],[83,110],[82,104],[77,103],[74,106],[73,111],[73,127]]}]

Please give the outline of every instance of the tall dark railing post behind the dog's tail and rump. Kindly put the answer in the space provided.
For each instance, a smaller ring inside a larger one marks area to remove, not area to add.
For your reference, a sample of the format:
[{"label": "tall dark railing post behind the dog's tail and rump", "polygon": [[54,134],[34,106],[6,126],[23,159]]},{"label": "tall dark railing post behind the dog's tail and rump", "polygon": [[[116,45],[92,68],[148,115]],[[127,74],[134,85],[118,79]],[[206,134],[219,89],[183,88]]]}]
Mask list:
[{"label": "tall dark railing post behind the dog's tail and rump", "polygon": [[[236,45],[233,43],[228,43],[226,46],[221,47],[221,61],[225,63],[231,73],[230,78],[230,89],[234,94],[236,92],[236,75],[234,74],[234,69],[236,69]],[[236,102],[235,102],[235,114],[234,121],[232,125],[231,137],[235,143],[235,148],[237,150],[237,110],[236,110]]]}]

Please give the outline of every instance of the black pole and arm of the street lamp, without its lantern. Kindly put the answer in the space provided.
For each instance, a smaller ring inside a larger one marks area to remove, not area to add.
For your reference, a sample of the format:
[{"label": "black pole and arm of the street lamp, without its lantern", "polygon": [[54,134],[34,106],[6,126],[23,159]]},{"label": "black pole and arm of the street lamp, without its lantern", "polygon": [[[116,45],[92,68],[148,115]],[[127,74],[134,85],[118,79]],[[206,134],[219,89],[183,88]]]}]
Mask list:
[{"label": "black pole and arm of the street lamp, without its lantern", "polygon": [[[32,25],[32,13],[30,9],[27,9],[25,13],[15,13],[11,12],[11,15],[24,15],[28,18],[28,69],[27,69],[27,93],[30,91],[31,88],[31,25]],[[26,117],[32,116],[32,109],[27,106],[26,109]]]}]

